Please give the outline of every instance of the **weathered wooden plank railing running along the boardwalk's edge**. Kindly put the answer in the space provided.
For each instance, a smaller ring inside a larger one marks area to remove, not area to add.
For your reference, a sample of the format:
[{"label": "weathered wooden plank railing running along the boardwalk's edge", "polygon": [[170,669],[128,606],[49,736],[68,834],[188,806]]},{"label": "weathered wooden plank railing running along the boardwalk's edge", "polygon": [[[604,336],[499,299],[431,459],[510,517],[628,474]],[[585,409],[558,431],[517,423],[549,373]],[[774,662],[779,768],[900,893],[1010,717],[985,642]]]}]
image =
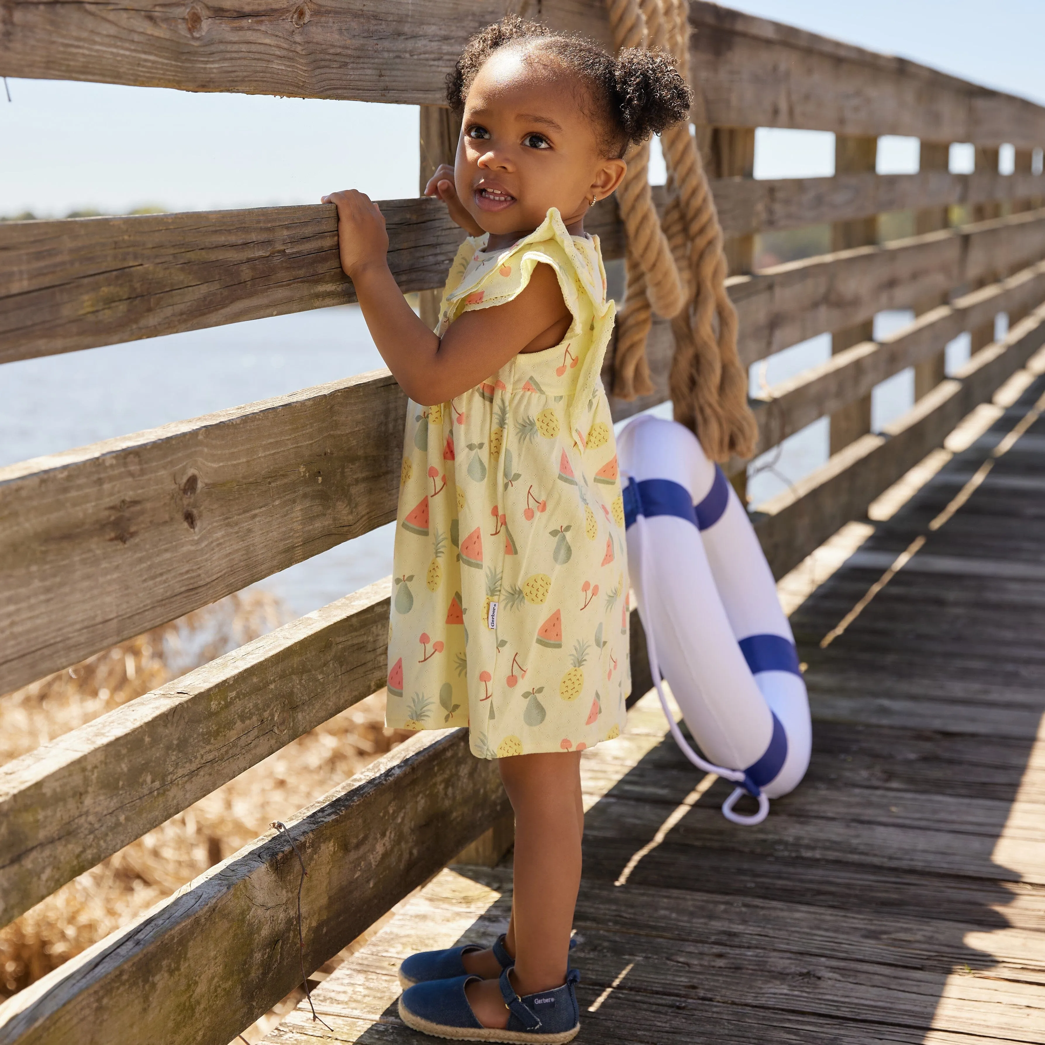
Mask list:
[{"label": "weathered wooden plank railing running along the boardwalk's edge", "polygon": [[[431,107],[431,169],[452,140],[435,108],[445,72],[503,6],[11,0],[0,74]],[[544,0],[539,11],[608,43],[598,0]],[[835,334],[828,363],[753,403],[760,450],[832,418],[830,460],[754,510],[781,576],[1045,343],[1045,180],[1031,159],[1045,110],[713,4],[691,3],[691,19],[696,130],[727,236],[743,359]],[[757,126],[835,132],[836,177],[753,180]],[[876,175],[883,134],[921,138],[923,169]],[[947,170],[952,141],[977,146],[974,173]],[[1011,176],[997,169],[1005,142],[1016,148]],[[972,219],[951,227],[947,208],[957,207]],[[441,205],[381,209],[403,292],[440,286],[460,237]],[[876,215],[893,210],[915,211],[922,234],[879,243]],[[816,223],[833,224],[833,253],[751,271],[753,234]],[[623,254],[611,202],[591,228],[607,258]],[[352,300],[329,207],[0,225],[0,362]],[[915,321],[876,343],[874,315],[898,307]],[[1009,330],[994,342],[999,311]],[[972,358],[945,378],[944,346],[962,331]],[[658,323],[657,391],[613,400],[614,417],[666,397],[671,352]],[[872,389],[907,367],[915,405],[870,433]],[[404,407],[382,371],[0,469],[0,692],[394,518]],[[0,924],[378,690],[388,613],[384,581],[0,767]],[[632,656],[641,692],[649,679],[634,620]],[[306,967],[506,810],[495,767],[468,753],[460,730],[418,736],[303,810],[291,835],[309,867]],[[259,838],[0,1006],[0,1043],[225,1045],[300,978],[298,874],[286,836]]]}]

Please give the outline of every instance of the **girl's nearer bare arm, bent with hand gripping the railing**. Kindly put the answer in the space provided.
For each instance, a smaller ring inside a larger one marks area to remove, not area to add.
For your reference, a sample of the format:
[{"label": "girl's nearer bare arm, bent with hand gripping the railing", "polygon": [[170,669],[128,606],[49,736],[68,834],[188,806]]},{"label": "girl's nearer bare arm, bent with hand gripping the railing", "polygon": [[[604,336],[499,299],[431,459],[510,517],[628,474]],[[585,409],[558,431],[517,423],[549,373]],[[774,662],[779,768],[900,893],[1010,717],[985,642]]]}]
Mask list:
[{"label": "girl's nearer bare arm, bent with hand gripping the railing", "polygon": [[388,233],[377,205],[354,189],[323,202],[338,207],[341,266],[355,285],[374,344],[415,402],[445,402],[519,352],[557,345],[568,329],[571,316],[555,273],[538,264],[521,294],[465,312],[440,340],[407,304],[389,270]]}]

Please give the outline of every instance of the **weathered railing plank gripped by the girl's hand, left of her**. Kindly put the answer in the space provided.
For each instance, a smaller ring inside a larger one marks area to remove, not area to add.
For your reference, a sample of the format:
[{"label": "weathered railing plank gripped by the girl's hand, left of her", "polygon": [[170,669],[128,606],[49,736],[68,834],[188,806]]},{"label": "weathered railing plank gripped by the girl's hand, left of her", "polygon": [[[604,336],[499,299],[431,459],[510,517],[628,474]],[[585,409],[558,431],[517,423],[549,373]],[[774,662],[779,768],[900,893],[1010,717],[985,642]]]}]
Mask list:
[{"label": "weathered railing plank gripped by the girl's hand, left of her", "polygon": [[[403,292],[441,285],[464,236],[435,200],[382,201]],[[0,229],[0,363],[355,300],[331,206]]]}]

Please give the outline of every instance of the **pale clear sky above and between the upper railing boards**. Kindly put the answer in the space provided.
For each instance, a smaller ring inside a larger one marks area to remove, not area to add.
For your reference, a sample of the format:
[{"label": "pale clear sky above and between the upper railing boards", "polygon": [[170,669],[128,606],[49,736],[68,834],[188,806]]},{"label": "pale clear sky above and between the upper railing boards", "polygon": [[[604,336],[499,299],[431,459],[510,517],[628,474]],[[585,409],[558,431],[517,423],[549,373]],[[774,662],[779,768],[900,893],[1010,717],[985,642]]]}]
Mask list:
[{"label": "pale clear sky above and between the upper railing boards", "polygon": [[[741,10],[901,54],[1045,103],[1045,0],[737,0]],[[990,13],[990,17],[985,14]],[[417,110],[60,80],[0,93],[0,214],[316,203],[417,194]],[[916,169],[883,142],[879,169]],[[756,176],[833,172],[828,134],[763,130]],[[658,180],[654,178],[654,180]]]}]

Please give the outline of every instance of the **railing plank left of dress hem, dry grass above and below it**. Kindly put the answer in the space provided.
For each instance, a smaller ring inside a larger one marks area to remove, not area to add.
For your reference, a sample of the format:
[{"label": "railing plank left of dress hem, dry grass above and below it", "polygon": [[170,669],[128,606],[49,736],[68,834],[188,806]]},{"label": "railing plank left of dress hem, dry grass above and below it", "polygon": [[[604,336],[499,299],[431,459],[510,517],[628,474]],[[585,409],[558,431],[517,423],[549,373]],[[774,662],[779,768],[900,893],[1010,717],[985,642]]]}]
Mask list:
[{"label": "railing plank left of dress hem, dry grass above and below it", "polygon": [[0,767],[0,925],[385,684],[390,579]]}]

